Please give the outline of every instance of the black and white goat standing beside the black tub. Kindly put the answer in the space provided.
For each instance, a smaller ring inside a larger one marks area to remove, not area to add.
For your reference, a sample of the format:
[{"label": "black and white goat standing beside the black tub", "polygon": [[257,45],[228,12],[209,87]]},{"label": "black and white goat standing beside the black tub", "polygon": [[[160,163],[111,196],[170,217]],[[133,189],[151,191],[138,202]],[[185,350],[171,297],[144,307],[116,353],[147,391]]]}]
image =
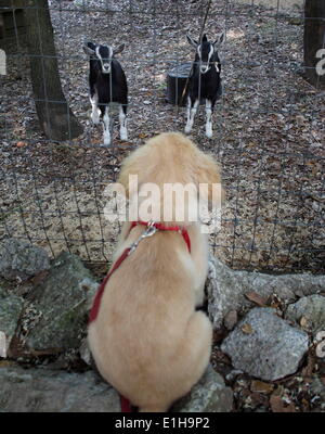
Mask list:
[{"label": "black and white goat standing beside the black tub", "polygon": [[195,48],[196,54],[188,81],[187,97],[187,123],[185,132],[192,130],[194,116],[199,101],[206,100],[206,136],[212,137],[212,112],[218,97],[221,94],[221,63],[217,47],[223,41],[224,34],[220,34],[214,42],[209,42],[206,35],[203,35],[200,43],[194,40],[188,34],[186,38]]}]

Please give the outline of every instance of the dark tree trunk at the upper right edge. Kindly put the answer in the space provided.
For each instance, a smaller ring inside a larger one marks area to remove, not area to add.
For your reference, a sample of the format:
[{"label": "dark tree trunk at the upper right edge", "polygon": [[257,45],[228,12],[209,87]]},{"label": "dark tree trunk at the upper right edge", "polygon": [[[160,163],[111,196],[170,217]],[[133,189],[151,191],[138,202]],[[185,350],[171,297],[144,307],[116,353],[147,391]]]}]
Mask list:
[{"label": "dark tree trunk at the upper right edge", "polygon": [[317,89],[325,89],[325,1],[304,3],[304,75]]}]

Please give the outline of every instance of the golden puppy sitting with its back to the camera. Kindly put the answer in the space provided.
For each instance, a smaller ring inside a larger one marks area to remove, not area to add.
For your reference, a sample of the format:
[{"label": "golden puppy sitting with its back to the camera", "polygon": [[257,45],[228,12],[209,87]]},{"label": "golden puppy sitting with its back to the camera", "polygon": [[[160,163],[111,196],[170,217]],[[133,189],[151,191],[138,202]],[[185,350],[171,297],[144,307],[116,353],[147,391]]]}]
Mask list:
[{"label": "golden puppy sitting with its back to the camera", "polygon": [[[146,182],[220,184],[218,164],[181,133],[161,133],[123,162],[118,182],[131,200],[129,176],[139,188]],[[136,192],[133,194],[136,194]],[[138,197],[139,206],[143,197]],[[172,206],[178,207],[173,201]],[[104,286],[96,317],[89,324],[89,345],[99,371],[140,411],[167,411],[190,392],[210,358],[212,327],[195,310],[204,301],[208,272],[208,239],[199,221],[159,222],[184,228],[191,252],[177,230],[157,231],[143,239]],[[114,260],[143,233],[145,227],[123,224]]]}]

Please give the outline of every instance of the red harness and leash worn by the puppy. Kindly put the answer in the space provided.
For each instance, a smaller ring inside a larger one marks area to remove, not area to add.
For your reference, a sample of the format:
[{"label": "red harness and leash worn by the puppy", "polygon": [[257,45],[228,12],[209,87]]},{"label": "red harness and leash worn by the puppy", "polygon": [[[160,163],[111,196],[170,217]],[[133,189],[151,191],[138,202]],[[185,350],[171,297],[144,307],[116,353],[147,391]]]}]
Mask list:
[{"label": "red harness and leash worn by the puppy", "polygon": [[[190,240],[190,235],[186,229],[181,228],[179,226],[165,226],[164,224],[160,222],[145,222],[145,221],[132,221],[131,222],[131,228],[130,231],[138,225],[142,225],[145,226],[146,229],[144,230],[144,232],[141,234],[141,237],[135,240],[130,247],[127,247],[123,253],[119,256],[119,258],[116,260],[116,263],[113,265],[113,267],[110,268],[109,272],[106,275],[105,279],[103,280],[103,282],[100,284],[100,288],[98,289],[96,295],[94,297],[93,301],[93,305],[89,315],[89,319],[88,319],[88,323],[90,324],[92,321],[94,321],[98,317],[99,310],[100,310],[100,305],[101,305],[101,299],[104,293],[104,289],[106,286],[106,283],[108,281],[108,279],[110,278],[110,276],[114,273],[114,271],[116,271],[118,269],[118,267],[121,265],[121,263],[129,256],[131,255],[134,250],[136,248],[138,244],[140,243],[141,240],[143,240],[144,238],[147,237],[152,237],[154,233],[156,233],[157,231],[174,231],[174,232],[179,232],[180,234],[182,234],[188,252],[191,253],[191,240]],[[120,401],[121,401],[121,411],[122,412],[130,412],[131,411],[131,406],[128,399],[126,399],[125,397],[120,397]]]}]

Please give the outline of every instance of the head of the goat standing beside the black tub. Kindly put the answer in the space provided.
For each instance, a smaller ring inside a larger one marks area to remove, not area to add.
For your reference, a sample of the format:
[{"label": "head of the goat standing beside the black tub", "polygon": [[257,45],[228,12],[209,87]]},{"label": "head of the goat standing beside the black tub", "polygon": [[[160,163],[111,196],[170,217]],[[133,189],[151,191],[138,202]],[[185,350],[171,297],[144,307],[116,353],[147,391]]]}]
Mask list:
[{"label": "head of the goat standing beside the black tub", "polygon": [[223,41],[223,35],[224,34],[219,35],[214,42],[209,42],[207,36],[204,35],[200,43],[194,40],[188,34],[186,35],[188,42],[196,49],[195,62],[199,65],[200,74],[206,74],[213,64],[217,72],[220,72],[217,46]]}]

